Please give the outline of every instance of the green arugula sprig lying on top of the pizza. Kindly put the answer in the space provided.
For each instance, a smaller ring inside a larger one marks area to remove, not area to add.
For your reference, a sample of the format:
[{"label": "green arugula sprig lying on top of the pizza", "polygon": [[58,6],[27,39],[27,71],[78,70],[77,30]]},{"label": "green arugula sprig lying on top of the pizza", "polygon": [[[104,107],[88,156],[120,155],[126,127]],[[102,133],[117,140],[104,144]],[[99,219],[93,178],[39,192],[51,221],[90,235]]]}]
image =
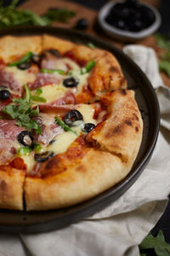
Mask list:
[{"label": "green arugula sprig lying on top of the pizza", "polygon": [[31,92],[26,84],[24,84],[26,96],[24,98],[13,99],[14,103],[8,104],[3,108],[3,113],[8,114],[12,119],[16,119],[16,125],[23,126],[28,130],[35,130],[36,134],[41,134],[41,126],[31,117],[37,116],[39,108],[31,108]]}]

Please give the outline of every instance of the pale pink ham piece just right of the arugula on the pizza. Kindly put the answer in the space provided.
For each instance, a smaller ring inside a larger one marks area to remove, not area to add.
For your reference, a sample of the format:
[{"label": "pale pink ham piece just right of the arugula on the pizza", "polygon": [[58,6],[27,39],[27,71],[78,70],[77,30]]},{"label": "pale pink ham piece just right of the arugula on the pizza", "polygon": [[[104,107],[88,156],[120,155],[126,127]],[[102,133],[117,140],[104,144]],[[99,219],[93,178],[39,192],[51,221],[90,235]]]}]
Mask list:
[{"label": "pale pink ham piece just right of the arugula on the pizza", "polygon": [[48,113],[39,113],[35,119],[42,128],[42,134],[33,136],[38,143],[48,145],[48,143],[53,141],[54,137],[64,131],[55,123],[54,115],[48,115]]}]

